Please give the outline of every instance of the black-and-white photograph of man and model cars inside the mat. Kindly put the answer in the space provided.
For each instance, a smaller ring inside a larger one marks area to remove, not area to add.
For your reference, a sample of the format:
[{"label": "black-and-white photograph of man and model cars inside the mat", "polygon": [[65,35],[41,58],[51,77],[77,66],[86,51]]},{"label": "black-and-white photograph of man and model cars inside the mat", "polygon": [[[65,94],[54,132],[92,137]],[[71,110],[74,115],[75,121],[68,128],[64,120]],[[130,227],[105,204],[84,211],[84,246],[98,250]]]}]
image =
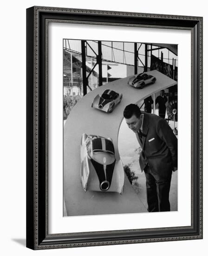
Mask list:
[{"label": "black-and-white photograph of man and model cars inside the mat", "polygon": [[176,44],[63,39],[63,216],[178,210],[177,77]]}]

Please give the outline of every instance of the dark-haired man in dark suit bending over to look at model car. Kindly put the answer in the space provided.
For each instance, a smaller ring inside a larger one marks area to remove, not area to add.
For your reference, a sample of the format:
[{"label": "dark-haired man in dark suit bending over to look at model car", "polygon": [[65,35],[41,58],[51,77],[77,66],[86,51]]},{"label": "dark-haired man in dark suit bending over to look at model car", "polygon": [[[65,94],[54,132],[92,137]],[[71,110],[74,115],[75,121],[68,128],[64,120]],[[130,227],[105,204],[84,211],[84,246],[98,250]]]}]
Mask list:
[{"label": "dark-haired man in dark suit bending over to look at model car", "polygon": [[169,189],[172,171],[177,169],[177,138],[167,121],[141,113],[135,104],[126,106],[123,116],[142,148],[139,164],[146,176],[148,211],[170,211]]}]

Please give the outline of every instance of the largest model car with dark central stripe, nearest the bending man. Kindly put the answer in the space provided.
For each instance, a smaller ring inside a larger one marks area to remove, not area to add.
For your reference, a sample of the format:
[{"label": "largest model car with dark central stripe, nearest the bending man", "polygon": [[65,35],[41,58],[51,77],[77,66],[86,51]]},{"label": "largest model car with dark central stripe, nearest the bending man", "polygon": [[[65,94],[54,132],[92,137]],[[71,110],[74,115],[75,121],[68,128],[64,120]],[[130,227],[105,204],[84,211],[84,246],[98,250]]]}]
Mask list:
[{"label": "largest model car with dark central stripe, nearest the bending man", "polygon": [[97,135],[82,135],[81,182],[84,191],[123,193],[124,171],[116,161],[113,142]]}]

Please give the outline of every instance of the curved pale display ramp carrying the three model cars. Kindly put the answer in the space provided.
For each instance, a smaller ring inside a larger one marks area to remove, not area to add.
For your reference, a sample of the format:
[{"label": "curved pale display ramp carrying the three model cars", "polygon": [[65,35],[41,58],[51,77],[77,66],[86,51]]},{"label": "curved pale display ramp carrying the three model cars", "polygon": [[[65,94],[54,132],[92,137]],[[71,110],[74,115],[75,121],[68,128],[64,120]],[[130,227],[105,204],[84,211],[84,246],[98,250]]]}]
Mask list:
[{"label": "curved pale display ramp carrying the three model cars", "polygon": [[[71,110],[64,127],[63,182],[67,216],[147,212],[126,175],[122,195],[112,192],[84,192],[80,178],[80,142],[83,133],[112,138],[118,161],[118,131],[123,120],[124,108],[177,83],[156,70],[147,73],[156,77],[155,84],[136,89],[127,85],[129,77],[119,79],[86,94]],[[123,94],[121,103],[112,113],[91,108],[94,97],[102,94],[105,89]]]}]

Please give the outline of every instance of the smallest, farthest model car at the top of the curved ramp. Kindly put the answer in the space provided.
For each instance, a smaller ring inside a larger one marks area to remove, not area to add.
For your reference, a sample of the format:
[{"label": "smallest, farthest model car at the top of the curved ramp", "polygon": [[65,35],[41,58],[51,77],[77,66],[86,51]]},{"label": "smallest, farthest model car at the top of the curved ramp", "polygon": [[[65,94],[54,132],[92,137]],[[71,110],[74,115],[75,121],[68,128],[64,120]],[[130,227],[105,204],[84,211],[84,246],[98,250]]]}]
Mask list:
[{"label": "smallest, farthest model car at the top of the curved ramp", "polygon": [[135,88],[143,88],[148,84],[154,84],[156,77],[150,74],[141,73],[130,77],[128,84]]}]

